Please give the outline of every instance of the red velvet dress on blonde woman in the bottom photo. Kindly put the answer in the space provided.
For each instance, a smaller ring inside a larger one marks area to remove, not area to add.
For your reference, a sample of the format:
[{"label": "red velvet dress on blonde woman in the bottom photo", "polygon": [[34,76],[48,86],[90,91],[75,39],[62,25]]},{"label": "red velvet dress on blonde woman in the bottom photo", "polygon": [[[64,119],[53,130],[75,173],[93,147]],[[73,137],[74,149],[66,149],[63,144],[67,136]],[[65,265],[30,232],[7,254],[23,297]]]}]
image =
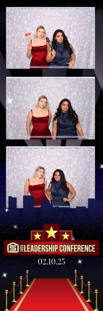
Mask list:
[{"label": "red velvet dress on blonde woman in the bottom photo", "polygon": [[[44,178],[45,181],[45,178]],[[28,179],[29,183],[29,179]],[[46,195],[45,195],[45,183],[41,183],[39,185],[28,185],[29,192],[31,195],[34,196],[34,206],[41,206],[41,203],[43,200],[48,200]]]}]

